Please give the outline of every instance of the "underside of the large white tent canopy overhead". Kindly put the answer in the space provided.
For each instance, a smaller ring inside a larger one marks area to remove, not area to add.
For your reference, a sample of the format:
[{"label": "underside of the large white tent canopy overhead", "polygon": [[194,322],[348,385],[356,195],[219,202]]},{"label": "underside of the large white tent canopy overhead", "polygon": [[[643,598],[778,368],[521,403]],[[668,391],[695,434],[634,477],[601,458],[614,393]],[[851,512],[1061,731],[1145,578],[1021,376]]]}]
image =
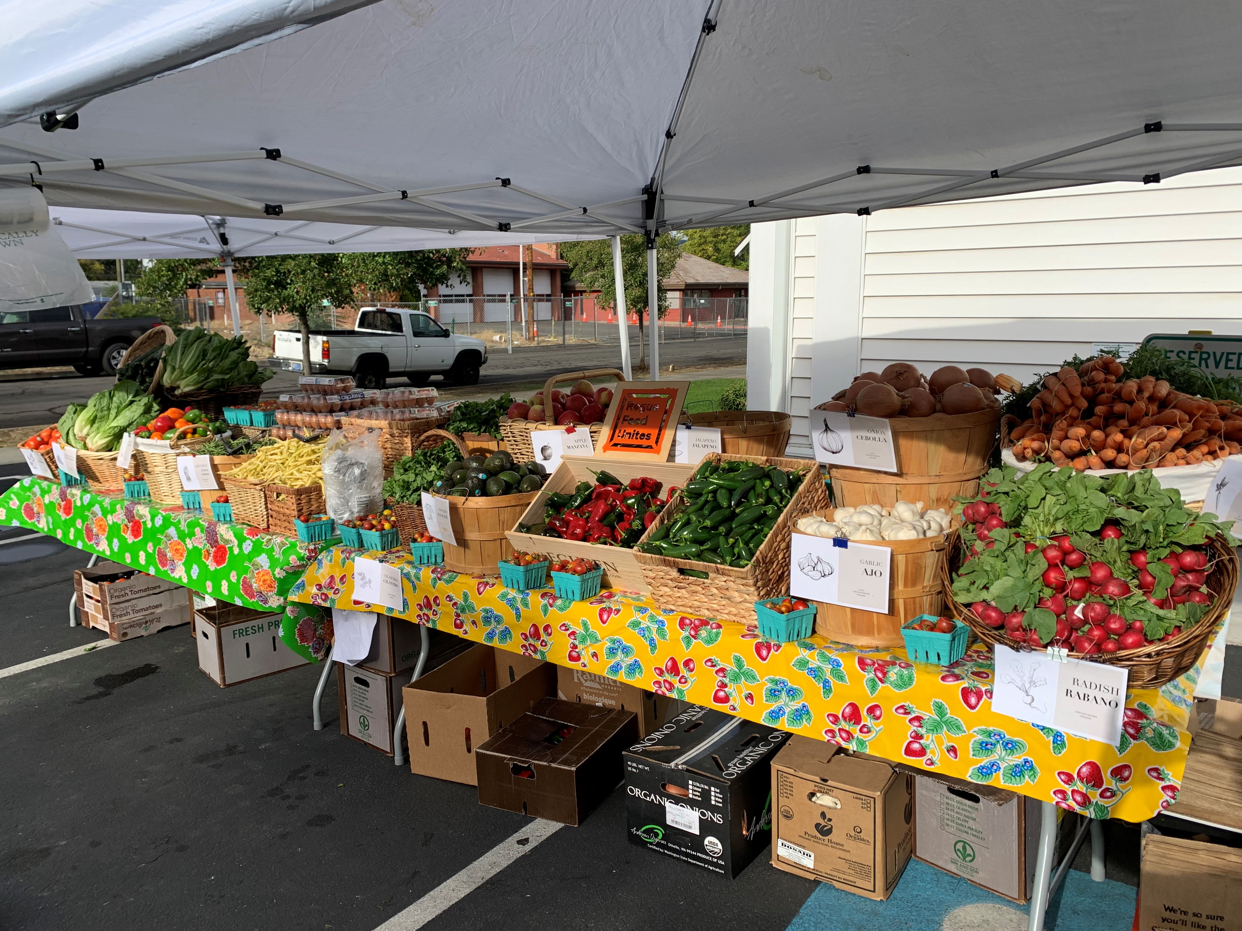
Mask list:
[{"label": "underside of the large white tent canopy overhead", "polygon": [[542,238],[1153,182],[1242,160],[1240,46],[1230,0],[384,0],[6,127],[0,182]]}]

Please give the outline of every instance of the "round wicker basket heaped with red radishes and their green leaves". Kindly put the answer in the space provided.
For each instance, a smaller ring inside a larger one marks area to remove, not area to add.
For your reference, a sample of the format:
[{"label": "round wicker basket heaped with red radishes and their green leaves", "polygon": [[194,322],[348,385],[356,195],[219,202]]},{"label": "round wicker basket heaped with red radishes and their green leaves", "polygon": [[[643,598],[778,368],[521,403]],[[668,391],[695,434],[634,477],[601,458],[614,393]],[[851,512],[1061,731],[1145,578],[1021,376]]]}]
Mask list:
[{"label": "round wicker basket heaped with red radishes and their green leaves", "polygon": [[1233,601],[1231,521],[1187,509],[1149,470],[1002,467],[960,514],[948,603],[987,644],[1064,647],[1156,688],[1195,665]]}]

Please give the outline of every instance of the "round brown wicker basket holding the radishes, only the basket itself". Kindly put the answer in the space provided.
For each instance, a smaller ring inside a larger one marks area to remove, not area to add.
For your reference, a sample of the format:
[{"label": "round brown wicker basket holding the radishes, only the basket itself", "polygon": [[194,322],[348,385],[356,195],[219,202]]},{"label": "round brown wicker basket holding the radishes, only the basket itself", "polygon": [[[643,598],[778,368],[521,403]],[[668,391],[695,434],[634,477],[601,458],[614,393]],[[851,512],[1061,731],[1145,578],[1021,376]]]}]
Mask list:
[{"label": "round brown wicker basket holding the radishes, only the basket itself", "polygon": [[[1207,587],[1216,596],[1216,601],[1212,602],[1197,624],[1189,631],[1182,631],[1181,636],[1167,643],[1151,643],[1138,649],[1123,649],[1117,653],[1093,653],[1089,657],[1082,653],[1071,653],[1069,655],[1077,659],[1125,667],[1130,670],[1128,688],[1131,689],[1158,689],[1191,669],[1203,655],[1207,639],[1228,613],[1238,583],[1238,559],[1233,547],[1218,536],[1208,540],[1207,547],[1211,551],[1212,562],[1216,564],[1216,571],[1208,577]],[[954,540],[941,569],[945,606],[954,617],[969,624],[979,639],[989,647],[1002,643],[1011,649],[1023,649],[1025,644],[1015,643],[1005,637],[1005,628],[989,627],[953,597],[953,572],[960,565],[960,560],[961,541]]]}]

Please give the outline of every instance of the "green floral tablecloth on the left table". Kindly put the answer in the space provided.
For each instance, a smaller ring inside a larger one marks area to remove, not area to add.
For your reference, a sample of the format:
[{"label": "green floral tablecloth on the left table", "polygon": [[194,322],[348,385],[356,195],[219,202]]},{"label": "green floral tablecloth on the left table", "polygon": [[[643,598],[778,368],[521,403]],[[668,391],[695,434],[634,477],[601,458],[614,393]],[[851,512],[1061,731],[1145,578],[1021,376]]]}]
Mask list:
[{"label": "green floral tablecloth on the left table", "polygon": [[17,524],[116,562],[180,582],[221,601],[260,611],[284,596],[318,555],[315,544],[202,511],[128,501],[26,478],[0,495],[0,524]]}]

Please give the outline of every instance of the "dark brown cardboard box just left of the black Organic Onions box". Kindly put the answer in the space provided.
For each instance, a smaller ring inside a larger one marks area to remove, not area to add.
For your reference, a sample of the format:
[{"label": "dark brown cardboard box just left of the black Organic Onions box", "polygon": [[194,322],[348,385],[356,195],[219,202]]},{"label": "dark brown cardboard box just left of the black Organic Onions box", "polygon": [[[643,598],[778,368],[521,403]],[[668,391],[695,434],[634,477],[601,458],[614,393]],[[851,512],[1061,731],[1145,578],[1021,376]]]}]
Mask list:
[{"label": "dark brown cardboard box just left of the black Organic Onions box", "polygon": [[474,753],[478,801],[578,827],[620,785],[633,711],[545,698]]}]

